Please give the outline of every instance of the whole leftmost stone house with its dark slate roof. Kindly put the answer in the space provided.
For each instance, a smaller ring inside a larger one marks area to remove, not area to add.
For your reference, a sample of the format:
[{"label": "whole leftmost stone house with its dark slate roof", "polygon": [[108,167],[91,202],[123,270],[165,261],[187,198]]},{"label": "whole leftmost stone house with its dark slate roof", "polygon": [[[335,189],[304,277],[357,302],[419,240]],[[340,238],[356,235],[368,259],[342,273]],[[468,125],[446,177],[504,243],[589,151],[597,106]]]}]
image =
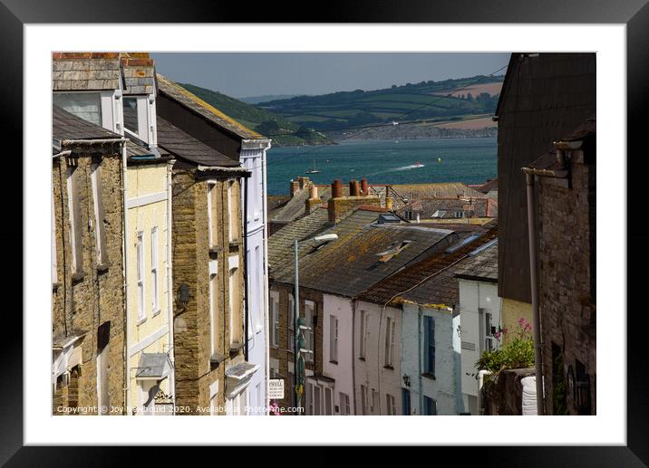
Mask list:
[{"label": "whole leftmost stone house with its dark slate roof", "polygon": [[53,414],[125,403],[123,138],[54,106]]}]

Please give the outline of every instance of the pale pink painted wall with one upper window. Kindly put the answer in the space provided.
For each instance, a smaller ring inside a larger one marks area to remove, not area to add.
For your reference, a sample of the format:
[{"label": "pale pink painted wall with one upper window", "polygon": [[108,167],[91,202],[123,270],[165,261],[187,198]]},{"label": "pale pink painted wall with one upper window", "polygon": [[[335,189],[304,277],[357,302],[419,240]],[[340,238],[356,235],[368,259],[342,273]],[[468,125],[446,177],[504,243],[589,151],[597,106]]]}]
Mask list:
[{"label": "pale pink painted wall with one upper window", "polygon": [[[335,379],[334,415],[343,412],[340,402],[341,392],[349,396],[350,414],[354,415],[354,383],[352,365],[354,359],[352,335],[353,310],[352,301],[347,298],[323,294],[324,328],[323,328],[323,371],[327,377]],[[338,320],[338,356],[337,364],[330,361],[331,356],[331,317]],[[338,411],[335,411],[335,407]]]}]

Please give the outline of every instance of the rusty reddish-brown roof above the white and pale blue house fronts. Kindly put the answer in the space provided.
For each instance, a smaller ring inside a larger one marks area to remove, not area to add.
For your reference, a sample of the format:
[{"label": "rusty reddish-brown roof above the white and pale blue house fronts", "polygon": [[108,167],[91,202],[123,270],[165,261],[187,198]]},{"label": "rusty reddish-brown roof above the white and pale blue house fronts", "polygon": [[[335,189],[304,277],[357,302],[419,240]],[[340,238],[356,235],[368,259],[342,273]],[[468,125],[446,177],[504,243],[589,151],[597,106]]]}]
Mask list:
[{"label": "rusty reddish-brown roof above the white and pale blue house fronts", "polygon": [[455,237],[453,245],[470,242],[450,253],[447,249],[441,249],[421,262],[414,263],[402,272],[375,284],[360,297],[363,301],[381,305],[391,300],[397,303],[405,300],[453,308],[458,302],[459,294],[455,274],[462,268],[462,262],[468,258],[469,253],[497,235],[498,227],[495,222],[490,223],[489,229],[481,231],[479,237],[473,241],[470,241],[471,233],[460,233]]}]

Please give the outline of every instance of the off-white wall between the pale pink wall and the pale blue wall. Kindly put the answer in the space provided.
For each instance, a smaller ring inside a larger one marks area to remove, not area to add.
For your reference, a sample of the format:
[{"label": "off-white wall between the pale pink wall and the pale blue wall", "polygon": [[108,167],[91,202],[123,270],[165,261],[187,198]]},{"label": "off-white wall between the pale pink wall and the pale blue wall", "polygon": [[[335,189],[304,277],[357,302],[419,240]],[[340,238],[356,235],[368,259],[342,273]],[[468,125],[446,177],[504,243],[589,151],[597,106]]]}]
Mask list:
[{"label": "off-white wall between the pale pink wall and the pale blue wall", "polygon": [[[365,358],[360,359],[361,310],[369,314],[369,337]],[[359,301],[354,313],[354,393],[356,415],[363,414],[361,386],[368,387],[370,415],[387,415],[386,395],[394,396],[396,414],[402,414],[402,310],[370,302]],[[390,317],[396,324],[394,359],[391,368],[385,368],[385,327]],[[372,406],[372,390],[378,393],[377,405]]]}]

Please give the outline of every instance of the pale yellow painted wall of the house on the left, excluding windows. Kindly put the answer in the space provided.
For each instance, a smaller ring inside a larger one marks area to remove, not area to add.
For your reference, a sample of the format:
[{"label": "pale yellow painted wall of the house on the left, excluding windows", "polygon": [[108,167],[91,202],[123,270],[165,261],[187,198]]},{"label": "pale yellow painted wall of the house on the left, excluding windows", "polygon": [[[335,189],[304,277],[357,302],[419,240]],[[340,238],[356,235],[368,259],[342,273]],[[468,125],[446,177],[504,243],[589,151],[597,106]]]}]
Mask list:
[{"label": "pale yellow painted wall of the house on the left, excluding windows", "polygon": [[[160,165],[131,166],[127,174],[127,199],[167,192],[166,163]],[[158,228],[158,289],[159,310],[153,310],[153,284],[151,274],[151,231]],[[169,307],[167,271],[167,199],[131,207],[127,212],[127,282],[129,314],[129,365],[130,401],[129,405],[140,406],[140,386],[135,380],[141,352],[169,352]],[[140,321],[138,313],[138,271],[137,240],[138,232],[143,233],[144,244],[144,297],[145,320]],[[140,341],[157,335],[146,348],[131,356],[131,349]],[[160,387],[170,393],[169,378]],[[132,414],[132,411],[130,411]]]}]

